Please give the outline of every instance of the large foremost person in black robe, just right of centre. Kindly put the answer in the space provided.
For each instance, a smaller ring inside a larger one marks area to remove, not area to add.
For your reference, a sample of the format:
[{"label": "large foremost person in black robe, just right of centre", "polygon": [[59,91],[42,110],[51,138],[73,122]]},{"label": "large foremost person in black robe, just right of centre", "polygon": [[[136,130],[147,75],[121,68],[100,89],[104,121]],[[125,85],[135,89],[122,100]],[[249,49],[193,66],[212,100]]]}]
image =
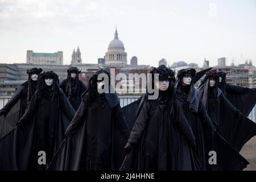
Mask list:
[{"label": "large foremost person in black robe, just right of centre", "polygon": [[[165,65],[153,68],[152,86],[159,89],[156,100],[143,95],[121,170],[197,170],[195,136],[189,127],[179,101],[175,97],[175,73]],[[159,82],[155,81],[159,74]]]}]

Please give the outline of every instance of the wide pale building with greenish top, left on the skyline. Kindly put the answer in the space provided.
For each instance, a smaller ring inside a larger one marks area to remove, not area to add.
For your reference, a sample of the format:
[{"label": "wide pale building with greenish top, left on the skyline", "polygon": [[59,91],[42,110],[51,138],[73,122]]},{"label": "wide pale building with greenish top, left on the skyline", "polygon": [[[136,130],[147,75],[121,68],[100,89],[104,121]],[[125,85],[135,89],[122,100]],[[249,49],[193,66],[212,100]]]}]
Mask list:
[{"label": "wide pale building with greenish top, left on the skyline", "polygon": [[27,51],[27,64],[63,65],[63,52],[39,53]]}]

